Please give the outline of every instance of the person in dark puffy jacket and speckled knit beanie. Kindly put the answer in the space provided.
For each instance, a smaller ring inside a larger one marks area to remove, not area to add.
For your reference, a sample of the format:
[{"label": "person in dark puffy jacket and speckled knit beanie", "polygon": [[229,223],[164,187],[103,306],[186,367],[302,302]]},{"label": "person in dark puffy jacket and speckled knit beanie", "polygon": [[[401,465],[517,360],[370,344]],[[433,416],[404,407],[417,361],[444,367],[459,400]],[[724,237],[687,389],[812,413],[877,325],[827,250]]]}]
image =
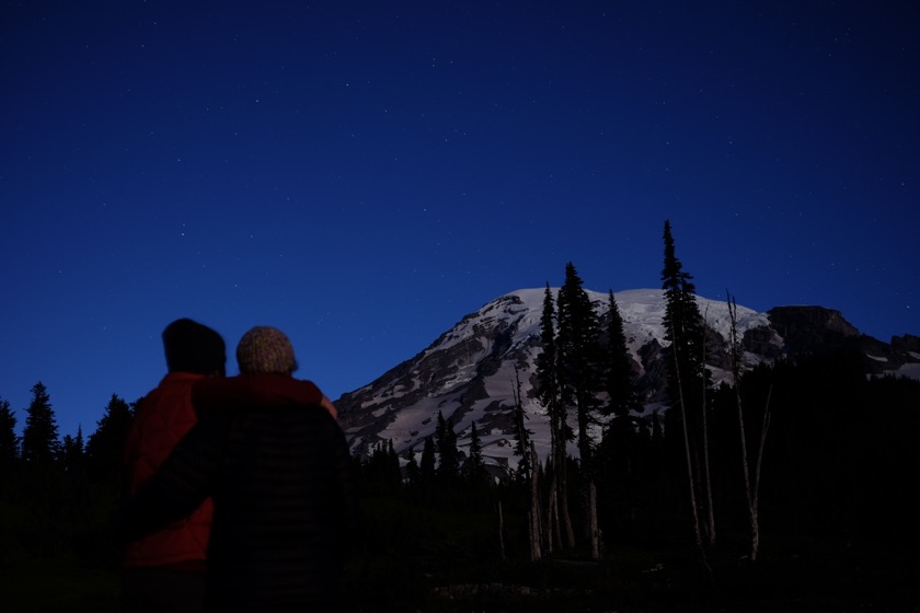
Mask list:
[{"label": "person in dark puffy jacket and speckled knit beanie", "polygon": [[142,536],[210,496],[207,610],[335,610],[357,502],[334,407],[291,391],[297,361],[276,328],[249,331],[237,359],[237,381],[193,391],[198,423],[126,500],[123,528]]}]

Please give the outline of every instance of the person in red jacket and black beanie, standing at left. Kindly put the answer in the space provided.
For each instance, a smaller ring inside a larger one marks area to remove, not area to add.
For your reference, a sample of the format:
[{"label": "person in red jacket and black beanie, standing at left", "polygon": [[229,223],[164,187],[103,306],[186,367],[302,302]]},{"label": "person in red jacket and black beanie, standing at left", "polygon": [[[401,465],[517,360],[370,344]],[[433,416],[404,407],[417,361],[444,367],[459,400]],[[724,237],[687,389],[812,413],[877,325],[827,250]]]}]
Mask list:
[{"label": "person in red jacket and black beanie, standing at left", "polygon": [[[139,403],[125,446],[127,495],[160,467],[197,417],[192,388],[225,375],[227,348],[220,334],[188,319],[162,334],[166,375]],[[130,612],[200,612],[214,507],[205,500],[188,517],[128,544],[122,602]]]}]

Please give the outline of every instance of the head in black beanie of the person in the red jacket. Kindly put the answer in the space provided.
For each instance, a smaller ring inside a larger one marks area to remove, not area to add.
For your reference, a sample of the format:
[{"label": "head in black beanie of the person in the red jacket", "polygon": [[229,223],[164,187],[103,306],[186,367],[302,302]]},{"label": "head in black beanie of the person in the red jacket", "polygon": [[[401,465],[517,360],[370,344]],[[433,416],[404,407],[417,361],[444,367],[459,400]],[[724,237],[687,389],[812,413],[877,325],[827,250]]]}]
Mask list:
[{"label": "head in black beanie of the person in the red jacket", "polygon": [[183,317],[163,329],[163,349],[170,372],[227,373],[227,345],[206,325]]}]

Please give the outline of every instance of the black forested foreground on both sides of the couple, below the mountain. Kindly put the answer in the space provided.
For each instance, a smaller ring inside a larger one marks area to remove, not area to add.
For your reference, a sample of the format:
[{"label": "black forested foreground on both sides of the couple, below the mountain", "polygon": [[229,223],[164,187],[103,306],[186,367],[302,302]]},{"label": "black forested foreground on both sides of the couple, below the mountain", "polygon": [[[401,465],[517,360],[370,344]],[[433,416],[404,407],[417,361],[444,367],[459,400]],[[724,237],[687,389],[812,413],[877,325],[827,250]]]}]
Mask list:
[{"label": "black forested foreground on both sides of the couple, below the mountain", "polygon": [[[920,382],[866,380],[859,359],[746,375],[751,394],[773,390],[756,560],[736,397],[723,389],[711,409],[711,543],[694,537],[680,441],[655,428],[636,430],[625,456],[611,452],[597,470],[598,559],[580,537],[579,495],[570,494],[576,546],[533,559],[529,483],[495,484],[469,462],[452,474],[427,462],[400,471],[381,444],[356,460],[366,533],[346,569],[348,610],[917,611]],[[33,393],[22,440],[10,447],[5,436],[2,448],[0,609],[116,611],[113,525],[130,407],[113,397],[85,444],[79,435],[57,441],[47,392]],[[43,419],[53,436],[35,436]],[[566,470],[579,491],[580,466]]]}]

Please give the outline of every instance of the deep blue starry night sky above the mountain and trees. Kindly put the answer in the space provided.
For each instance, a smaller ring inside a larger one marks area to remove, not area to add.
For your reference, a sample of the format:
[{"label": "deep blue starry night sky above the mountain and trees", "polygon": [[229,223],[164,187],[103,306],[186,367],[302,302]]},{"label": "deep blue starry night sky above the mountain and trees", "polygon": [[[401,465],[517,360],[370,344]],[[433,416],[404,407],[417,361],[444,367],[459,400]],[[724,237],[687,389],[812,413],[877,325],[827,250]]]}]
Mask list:
[{"label": "deep blue starry night sky above the mountain and trees", "polygon": [[[705,5],[701,5],[705,4]],[[333,400],[520,288],[920,334],[910,2],[3,2],[0,397],[60,433],[188,316]]]}]

